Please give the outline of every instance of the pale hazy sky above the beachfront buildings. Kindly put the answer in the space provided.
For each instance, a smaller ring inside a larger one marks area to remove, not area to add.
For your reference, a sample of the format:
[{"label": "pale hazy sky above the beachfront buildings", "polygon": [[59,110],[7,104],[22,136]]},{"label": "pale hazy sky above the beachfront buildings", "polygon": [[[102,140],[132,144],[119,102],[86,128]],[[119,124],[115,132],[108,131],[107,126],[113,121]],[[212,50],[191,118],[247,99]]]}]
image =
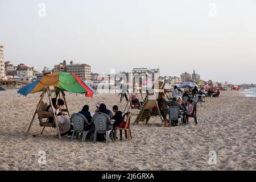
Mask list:
[{"label": "pale hazy sky above the beachfront buildings", "polygon": [[256,83],[256,1],[0,0],[0,44],[5,61],[39,71],[73,60],[98,73],[159,65],[162,76]]}]

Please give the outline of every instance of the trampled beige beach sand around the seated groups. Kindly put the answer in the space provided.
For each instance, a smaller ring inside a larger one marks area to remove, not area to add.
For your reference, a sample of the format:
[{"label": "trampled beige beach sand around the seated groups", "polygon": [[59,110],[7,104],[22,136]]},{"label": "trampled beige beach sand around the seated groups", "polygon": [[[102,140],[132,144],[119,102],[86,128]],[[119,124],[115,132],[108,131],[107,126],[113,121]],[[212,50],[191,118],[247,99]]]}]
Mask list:
[{"label": "trampled beige beach sand around the seated groups", "polygon": [[[0,170],[255,170],[256,98],[237,91],[223,91],[220,98],[206,98],[197,111],[198,125],[189,118],[187,126],[159,127],[159,117],[148,125],[131,125],[132,140],[96,142],[81,138],[59,140],[56,130],[47,127],[42,135],[36,118],[30,135],[24,137],[40,93],[20,96],[17,90],[0,92]],[[117,94],[67,93],[71,113],[85,104],[90,111],[98,102],[112,108]],[[47,101],[48,102],[48,101]],[[139,110],[133,111],[134,122]],[[119,135],[119,133],[118,133]],[[38,163],[38,152],[46,152],[46,165]],[[209,152],[216,151],[217,164],[208,164]]]}]

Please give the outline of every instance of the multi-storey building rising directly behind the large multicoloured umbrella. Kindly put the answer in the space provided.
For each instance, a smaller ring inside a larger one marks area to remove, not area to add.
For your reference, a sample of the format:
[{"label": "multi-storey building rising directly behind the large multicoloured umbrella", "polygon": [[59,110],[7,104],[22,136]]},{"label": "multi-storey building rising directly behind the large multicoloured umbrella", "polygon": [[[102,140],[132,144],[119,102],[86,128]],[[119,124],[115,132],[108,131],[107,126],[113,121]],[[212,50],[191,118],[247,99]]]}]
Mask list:
[{"label": "multi-storey building rising directly behind the large multicoloured umbrella", "polygon": [[90,65],[88,64],[73,64],[72,62],[71,64],[67,65],[67,72],[75,73],[82,80],[86,82],[90,82],[91,69],[90,69]]}]

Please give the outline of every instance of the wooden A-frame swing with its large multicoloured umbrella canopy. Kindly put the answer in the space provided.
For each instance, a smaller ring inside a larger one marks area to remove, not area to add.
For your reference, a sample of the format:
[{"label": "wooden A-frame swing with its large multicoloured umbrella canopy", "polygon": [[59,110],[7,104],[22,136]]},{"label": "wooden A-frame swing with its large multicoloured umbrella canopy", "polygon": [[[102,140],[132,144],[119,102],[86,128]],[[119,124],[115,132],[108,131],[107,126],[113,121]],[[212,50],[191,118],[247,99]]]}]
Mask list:
[{"label": "wooden A-frame swing with its large multicoloured umbrella canopy", "polygon": [[[65,102],[65,107],[67,108],[67,109],[63,109],[62,111],[67,111],[70,117],[64,91],[71,92],[71,93],[85,93],[86,97],[93,97],[93,94],[96,92],[88,84],[86,84],[86,82],[82,81],[79,76],[73,73],[66,73],[66,72],[50,73],[46,76],[40,77],[37,81],[32,82],[31,84],[28,84],[18,90],[18,93],[24,96],[27,96],[28,93],[42,92],[42,94],[40,95],[40,101],[36,106],[36,110],[30,122],[30,126],[28,127],[26,136],[28,135],[31,129],[31,126],[32,126],[32,123],[34,122],[36,114],[38,114],[40,126],[43,126],[43,130],[41,134],[43,134],[44,128],[47,126],[56,127],[59,138],[61,139],[60,130],[59,130],[59,126],[57,125],[55,112],[52,113],[52,112],[46,111],[47,104],[43,102],[43,98],[47,94],[47,97],[49,99],[49,104],[53,110],[53,105],[51,100],[52,93],[55,93],[55,98],[57,98],[58,96],[60,97],[60,94],[62,94]],[[49,117],[53,118],[52,123],[48,122]],[[47,118],[47,121],[43,122],[43,119],[45,118]]]}]

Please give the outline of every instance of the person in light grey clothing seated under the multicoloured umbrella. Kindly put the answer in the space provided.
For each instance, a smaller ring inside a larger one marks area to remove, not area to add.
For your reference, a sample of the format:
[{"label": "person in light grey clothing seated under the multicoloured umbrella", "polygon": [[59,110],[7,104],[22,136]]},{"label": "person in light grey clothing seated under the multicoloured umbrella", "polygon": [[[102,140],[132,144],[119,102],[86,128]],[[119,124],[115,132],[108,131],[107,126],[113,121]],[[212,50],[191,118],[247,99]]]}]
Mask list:
[{"label": "person in light grey clothing seated under the multicoloured umbrella", "polygon": [[[54,101],[54,99],[52,99]],[[64,106],[64,101],[63,100],[58,100],[55,104],[53,104],[53,111],[56,114],[56,119],[57,123],[59,124],[59,129],[60,129],[60,135],[65,136],[65,135],[72,135],[71,133],[71,121],[68,117],[68,115],[60,115],[61,114],[61,109]],[[52,111],[52,108],[49,107],[48,111]]]}]

